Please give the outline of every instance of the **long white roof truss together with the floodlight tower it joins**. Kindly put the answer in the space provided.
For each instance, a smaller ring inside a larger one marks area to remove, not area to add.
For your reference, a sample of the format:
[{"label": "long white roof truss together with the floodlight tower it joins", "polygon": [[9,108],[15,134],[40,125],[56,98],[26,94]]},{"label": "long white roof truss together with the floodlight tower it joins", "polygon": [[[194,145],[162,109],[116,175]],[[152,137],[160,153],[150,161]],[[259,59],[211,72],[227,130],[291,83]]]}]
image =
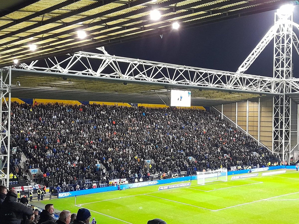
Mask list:
[{"label": "long white roof truss together with the floodlight tower it joins", "polygon": [[[160,82],[185,87],[272,93],[274,96],[271,151],[281,160],[290,161],[295,147],[291,148],[290,144],[291,98],[288,93],[299,93],[299,79],[294,79],[292,74],[292,46],[299,54],[299,39],[293,27],[299,29],[299,25],[293,22],[292,13],[289,15],[275,13],[274,25],[236,73],[111,56],[103,47],[98,48],[102,54],[80,51],[62,61],[58,61],[56,57],[45,59],[47,67],[37,66],[38,61],[33,61],[29,65],[22,63],[20,67],[27,70]],[[274,39],[273,78],[243,74],[272,39]],[[79,67],[82,69],[78,70]],[[297,145],[298,143],[297,141]]]}]

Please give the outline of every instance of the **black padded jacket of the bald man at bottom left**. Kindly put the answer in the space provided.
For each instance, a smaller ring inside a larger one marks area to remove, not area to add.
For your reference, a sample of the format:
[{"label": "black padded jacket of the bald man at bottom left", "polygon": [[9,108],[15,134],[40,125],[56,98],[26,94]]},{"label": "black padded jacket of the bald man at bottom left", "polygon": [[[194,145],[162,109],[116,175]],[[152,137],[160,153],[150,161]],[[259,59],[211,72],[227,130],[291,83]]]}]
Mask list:
[{"label": "black padded jacket of the bald man at bottom left", "polygon": [[9,192],[0,207],[1,224],[20,224],[23,215],[32,215],[32,208],[17,202],[17,195]]}]

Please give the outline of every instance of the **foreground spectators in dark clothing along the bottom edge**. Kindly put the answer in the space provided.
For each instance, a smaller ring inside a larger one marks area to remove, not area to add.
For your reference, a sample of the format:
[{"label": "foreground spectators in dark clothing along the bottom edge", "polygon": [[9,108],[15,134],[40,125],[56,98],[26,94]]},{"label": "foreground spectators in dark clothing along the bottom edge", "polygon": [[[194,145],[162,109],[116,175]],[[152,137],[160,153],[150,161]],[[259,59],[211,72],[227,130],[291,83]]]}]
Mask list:
[{"label": "foreground spectators in dark clothing along the bottom edge", "polygon": [[[22,197],[17,201],[17,191],[0,185],[0,224],[89,224],[91,213],[86,208],[79,208],[76,213],[63,210],[58,220],[54,220],[54,205],[47,204],[45,209],[39,211],[28,204],[28,199]],[[95,218],[91,224],[96,224]],[[161,219],[149,220],[147,224],[167,224]]]}]

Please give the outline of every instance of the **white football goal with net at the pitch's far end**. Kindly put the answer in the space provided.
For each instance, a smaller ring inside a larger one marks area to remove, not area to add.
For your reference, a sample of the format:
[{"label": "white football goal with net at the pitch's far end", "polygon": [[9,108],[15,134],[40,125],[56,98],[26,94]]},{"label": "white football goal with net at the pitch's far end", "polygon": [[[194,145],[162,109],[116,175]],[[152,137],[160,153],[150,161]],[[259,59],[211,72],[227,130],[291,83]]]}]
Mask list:
[{"label": "white football goal with net at the pitch's far end", "polygon": [[197,184],[205,185],[208,182],[227,181],[227,169],[218,169],[205,172],[196,172]]}]

